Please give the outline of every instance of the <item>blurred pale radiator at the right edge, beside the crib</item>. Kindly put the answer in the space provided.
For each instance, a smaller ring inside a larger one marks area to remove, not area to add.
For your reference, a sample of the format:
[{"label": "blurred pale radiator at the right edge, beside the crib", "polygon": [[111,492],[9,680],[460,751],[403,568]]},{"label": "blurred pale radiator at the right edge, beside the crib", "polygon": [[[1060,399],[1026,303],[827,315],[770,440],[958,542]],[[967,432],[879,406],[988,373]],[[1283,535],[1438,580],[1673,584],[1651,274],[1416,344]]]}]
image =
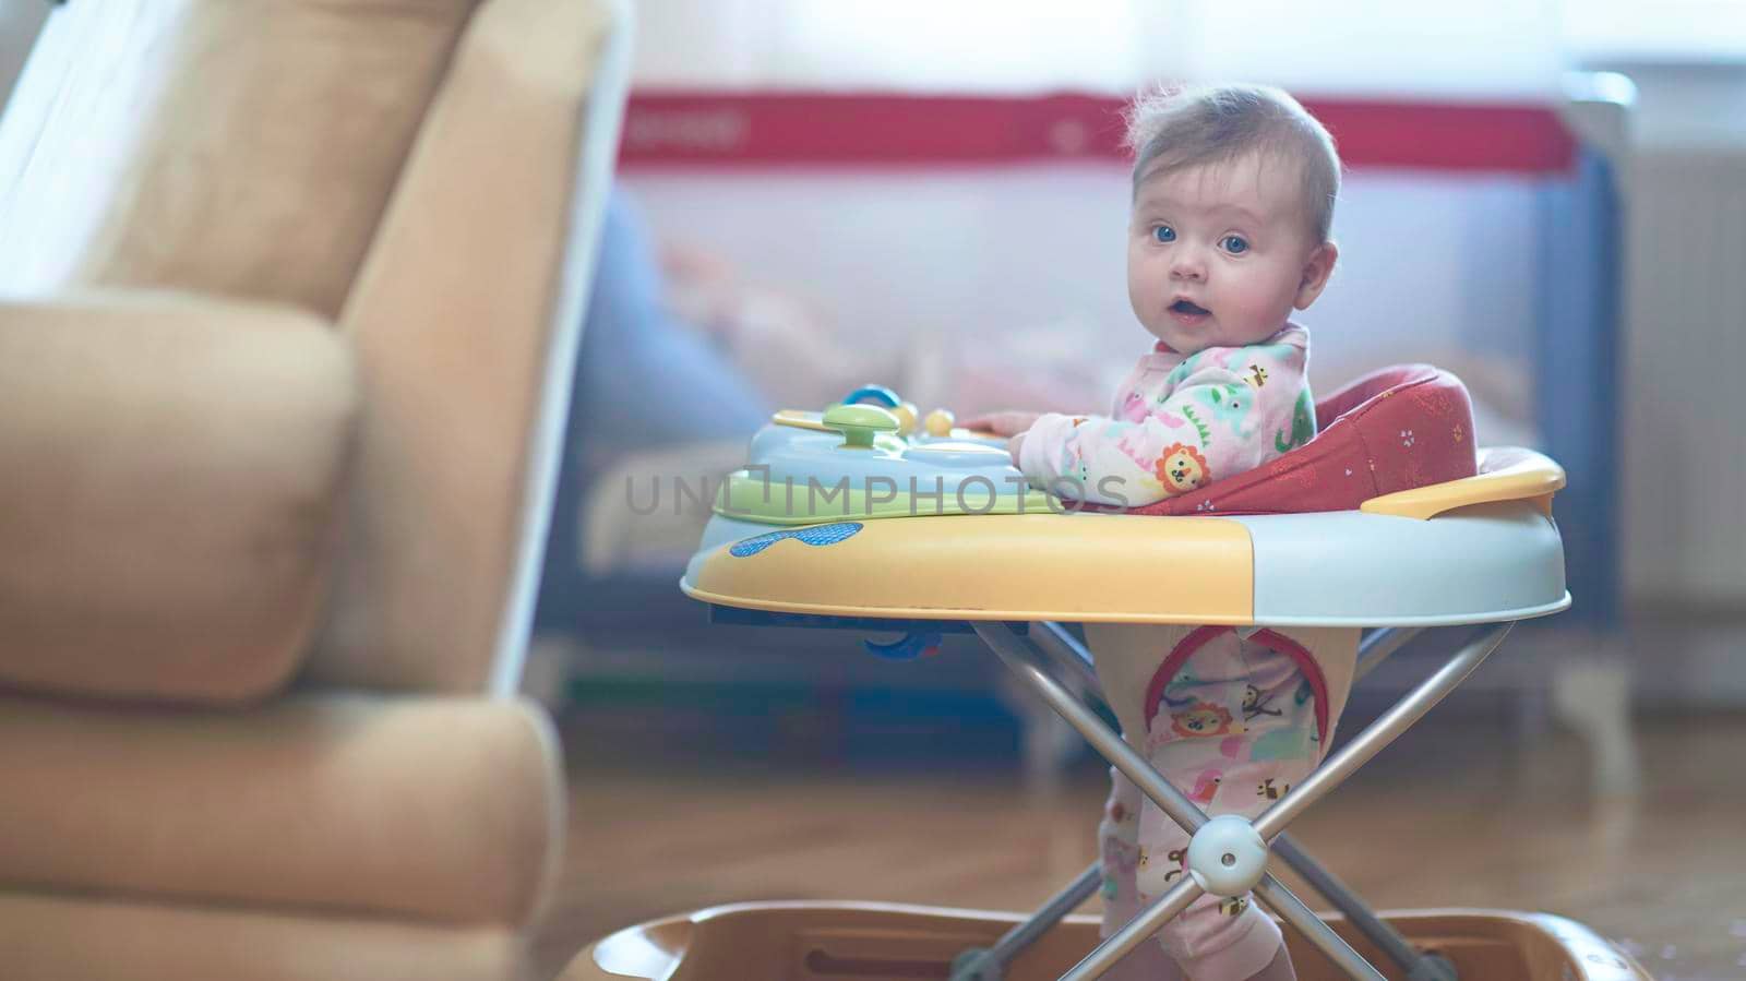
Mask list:
[{"label": "blurred pale radiator at the right edge, beside the crib", "polygon": [[1626,590],[1746,613],[1746,150],[1639,154],[1626,199]]}]

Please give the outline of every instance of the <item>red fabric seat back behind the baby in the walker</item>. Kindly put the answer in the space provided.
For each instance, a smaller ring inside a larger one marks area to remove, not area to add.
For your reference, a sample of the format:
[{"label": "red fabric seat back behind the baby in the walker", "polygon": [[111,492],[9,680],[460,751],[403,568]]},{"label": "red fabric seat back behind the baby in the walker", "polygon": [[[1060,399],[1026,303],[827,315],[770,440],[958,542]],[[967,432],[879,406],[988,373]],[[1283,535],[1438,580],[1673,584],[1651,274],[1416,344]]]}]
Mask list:
[{"label": "red fabric seat back behind the baby in the walker", "polygon": [[1138,515],[1353,511],[1395,490],[1477,473],[1474,403],[1460,379],[1397,365],[1315,407],[1316,436],[1247,473],[1165,497]]}]

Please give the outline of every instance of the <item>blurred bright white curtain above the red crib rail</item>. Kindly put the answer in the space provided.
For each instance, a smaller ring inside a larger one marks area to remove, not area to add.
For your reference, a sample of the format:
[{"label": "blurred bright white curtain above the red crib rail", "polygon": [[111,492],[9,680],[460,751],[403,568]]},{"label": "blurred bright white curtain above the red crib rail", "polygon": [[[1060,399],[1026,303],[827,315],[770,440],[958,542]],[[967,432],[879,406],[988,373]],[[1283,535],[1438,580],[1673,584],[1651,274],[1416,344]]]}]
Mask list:
[{"label": "blurred bright white curtain above the red crib rail", "polygon": [[1241,79],[1316,94],[1531,98],[1554,93],[1564,68],[1566,2],[643,0],[637,82],[1130,93]]}]

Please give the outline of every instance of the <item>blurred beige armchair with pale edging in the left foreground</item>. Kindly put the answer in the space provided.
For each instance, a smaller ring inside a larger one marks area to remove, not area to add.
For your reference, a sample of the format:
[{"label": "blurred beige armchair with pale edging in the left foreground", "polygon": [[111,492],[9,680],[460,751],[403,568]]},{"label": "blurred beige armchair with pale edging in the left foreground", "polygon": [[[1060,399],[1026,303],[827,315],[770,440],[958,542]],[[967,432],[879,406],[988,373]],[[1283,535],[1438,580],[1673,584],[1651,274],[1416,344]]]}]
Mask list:
[{"label": "blurred beige armchair with pale edging in the left foreground", "polygon": [[0,120],[0,974],[519,978],[594,0],[73,0]]}]

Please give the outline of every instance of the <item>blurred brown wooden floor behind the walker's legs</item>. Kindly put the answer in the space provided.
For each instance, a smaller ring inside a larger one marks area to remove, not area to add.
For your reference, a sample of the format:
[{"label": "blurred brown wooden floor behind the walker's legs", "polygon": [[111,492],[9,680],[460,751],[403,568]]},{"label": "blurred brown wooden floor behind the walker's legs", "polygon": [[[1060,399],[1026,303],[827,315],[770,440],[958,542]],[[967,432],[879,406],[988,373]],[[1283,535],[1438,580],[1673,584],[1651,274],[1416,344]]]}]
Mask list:
[{"label": "blurred brown wooden floor behind the walker's legs", "polygon": [[[571,834],[540,934],[545,976],[592,937],[679,909],[796,897],[1028,909],[1093,859],[1105,777],[1091,761],[1055,792],[1027,792],[999,758],[952,763],[950,735],[938,766],[849,772],[808,752],[805,731],[746,758],[712,752],[707,728],[622,723],[560,724]],[[1575,737],[1433,716],[1292,833],[1378,908],[1547,909],[1662,981],[1746,979],[1746,716],[1645,719],[1638,737],[1643,792],[1603,801]]]}]

